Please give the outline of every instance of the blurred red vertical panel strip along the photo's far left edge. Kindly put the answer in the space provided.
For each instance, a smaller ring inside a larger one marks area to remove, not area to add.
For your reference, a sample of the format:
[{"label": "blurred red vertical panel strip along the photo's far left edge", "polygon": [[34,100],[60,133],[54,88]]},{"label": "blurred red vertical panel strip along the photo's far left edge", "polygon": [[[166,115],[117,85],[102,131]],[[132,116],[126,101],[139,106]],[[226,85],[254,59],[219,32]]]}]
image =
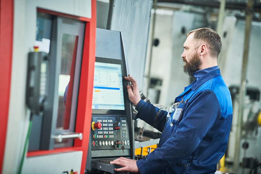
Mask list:
[{"label": "blurred red vertical panel strip along the photo's far left edge", "polygon": [[0,0],[0,173],[6,144],[13,45],[13,0]]}]

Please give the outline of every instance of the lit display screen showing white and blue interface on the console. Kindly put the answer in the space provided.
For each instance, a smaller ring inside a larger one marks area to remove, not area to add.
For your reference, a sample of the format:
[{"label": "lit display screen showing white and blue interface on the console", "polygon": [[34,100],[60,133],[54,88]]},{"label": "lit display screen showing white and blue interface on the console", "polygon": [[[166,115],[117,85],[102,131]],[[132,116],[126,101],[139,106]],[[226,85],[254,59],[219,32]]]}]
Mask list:
[{"label": "lit display screen showing white and blue interface on the console", "polygon": [[125,110],[122,77],[122,64],[97,62],[96,58],[93,110]]}]

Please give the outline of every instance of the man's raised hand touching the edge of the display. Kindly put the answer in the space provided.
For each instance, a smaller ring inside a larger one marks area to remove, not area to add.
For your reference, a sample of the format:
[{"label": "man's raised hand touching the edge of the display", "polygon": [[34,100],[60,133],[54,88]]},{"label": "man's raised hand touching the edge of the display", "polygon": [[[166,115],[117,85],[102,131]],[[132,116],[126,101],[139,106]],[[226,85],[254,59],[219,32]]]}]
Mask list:
[{"label": "man's raised hand touching the edge of the display", "polygon": [[124,77],[124,79],[131,82],[131,86],[127,86],[128,96],[130,101],[136,106],[141,100],[137,81],[131,75]]}]

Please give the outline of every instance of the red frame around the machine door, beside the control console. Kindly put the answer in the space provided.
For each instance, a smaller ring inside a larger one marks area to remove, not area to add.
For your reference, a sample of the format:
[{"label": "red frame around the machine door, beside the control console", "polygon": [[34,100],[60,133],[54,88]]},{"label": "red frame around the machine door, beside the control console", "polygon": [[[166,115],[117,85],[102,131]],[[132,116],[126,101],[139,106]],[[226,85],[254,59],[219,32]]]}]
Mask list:
[{"label": "red frame around the machine door, beside the control console", "polygon": [[79,96],[77,106],[77,117],[75,124],[75,132],[82,132],[83,139],[76,139],[73,147],[58,148],[49,151],[34,151],[28,152],[27,157],[48,155],[53,153],[63,153],[70,151],[82,151],[81,172],[84,173],[86,157],[89,143],[90,121],[91,121],[91,105],[93,97],[93,75],[95,62],[95,35],[96,35],[96,0],[91,1],[92,17],[78,17],[69,14],[53,12],[45,9],[37,9],[38,12],[44,12],[62,17],[68,17],[86,22],[84,46],[82,54],[81,75],[79,84]]}]

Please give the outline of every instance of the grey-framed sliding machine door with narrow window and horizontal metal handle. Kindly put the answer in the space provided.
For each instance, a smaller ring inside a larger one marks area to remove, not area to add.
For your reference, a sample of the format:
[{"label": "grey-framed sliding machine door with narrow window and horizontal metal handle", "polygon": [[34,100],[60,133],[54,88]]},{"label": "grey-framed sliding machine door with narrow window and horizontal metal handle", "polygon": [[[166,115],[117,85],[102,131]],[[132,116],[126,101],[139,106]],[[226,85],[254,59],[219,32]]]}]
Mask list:
[{"label": "grey-framed sliding machine door with narrow window and horizontal metal handle", "polygon": [[63,17],[53,20],[49,95],[53,99],[43,118],[41,149],[73,146],[77,138],[74,131],[84,29],[81,21]]}]

